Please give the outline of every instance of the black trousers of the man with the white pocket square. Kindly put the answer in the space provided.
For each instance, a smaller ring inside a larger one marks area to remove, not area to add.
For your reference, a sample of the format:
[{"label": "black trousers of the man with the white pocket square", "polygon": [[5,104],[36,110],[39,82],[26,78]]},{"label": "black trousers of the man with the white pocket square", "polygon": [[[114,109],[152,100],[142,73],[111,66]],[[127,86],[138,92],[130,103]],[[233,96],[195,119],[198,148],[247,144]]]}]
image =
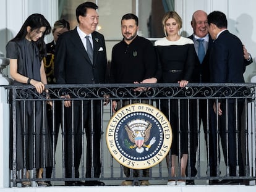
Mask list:
[{"label": "black trousers of the man with the white pocket square", "polygon": [[[82,156],[82,137],[87,139],[86,175],[100,177],[100,140],[101,140],[101,107],[100,101],[74,101],[72,107],[65,108],[65,168],[66,177],[79,177],[79,165]],[[83,112],[83,114],[82,114]],[[92,119],[93,118],[93,119]],[[93,158],[93,159],[92,159]],[[94,169],[92,170],[92,162]],[[74,175],[72,175],[74,170]]]}]

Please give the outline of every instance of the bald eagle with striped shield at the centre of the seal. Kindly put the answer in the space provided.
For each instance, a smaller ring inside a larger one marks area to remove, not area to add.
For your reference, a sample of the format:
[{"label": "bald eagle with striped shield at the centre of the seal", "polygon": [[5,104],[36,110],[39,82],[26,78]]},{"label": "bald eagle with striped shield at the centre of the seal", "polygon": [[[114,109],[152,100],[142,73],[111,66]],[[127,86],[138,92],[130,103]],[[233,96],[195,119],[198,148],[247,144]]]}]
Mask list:
[{"label": "bald eagle with striped shield at the centre of the seal", "polygon": [[156,138],[153,136],[150,142],[146,144],[150,138],[150,130],[152,128],[152,124],[147,120],[135,119],[131,122],[127,123],[124,128],[127,131],[127,135],[129,140],[134,144],[129,144],[130,149],[134,149],[142,153],[144,148],[146,151],[151,147],[152,144],[155,143]]}]

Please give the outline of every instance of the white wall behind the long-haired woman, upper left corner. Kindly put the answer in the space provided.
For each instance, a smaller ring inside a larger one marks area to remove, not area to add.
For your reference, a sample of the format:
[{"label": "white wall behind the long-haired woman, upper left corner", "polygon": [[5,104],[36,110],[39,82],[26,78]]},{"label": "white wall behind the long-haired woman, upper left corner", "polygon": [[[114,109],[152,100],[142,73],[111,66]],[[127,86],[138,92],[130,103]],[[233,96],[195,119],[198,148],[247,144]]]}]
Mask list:
[{"label": "white wall behind the long-haired woman, upper left corner", "polygon": [[0,0],[0,2],[2,8],[0,11],[0,51],[4,55],[6,55],[7,41],[19,32],[28,15],[43,14],[50,24],[58,19],[58,0]]}]

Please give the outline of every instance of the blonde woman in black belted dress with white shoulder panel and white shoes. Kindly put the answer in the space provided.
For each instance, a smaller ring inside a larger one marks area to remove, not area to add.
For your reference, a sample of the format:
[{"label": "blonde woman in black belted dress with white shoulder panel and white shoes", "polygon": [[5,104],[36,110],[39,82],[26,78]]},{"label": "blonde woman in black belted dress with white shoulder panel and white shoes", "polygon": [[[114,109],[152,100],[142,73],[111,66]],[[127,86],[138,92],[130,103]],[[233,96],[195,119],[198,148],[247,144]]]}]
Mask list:
[{"label": "blonde woman in black belted dress with white shoulder panel and white shoes", "polygon": [[[163,17],[164,38],[155,42],[158,62],[162,69],[163,83],[179,83],[184,88],[192,77],[195,62],[194,42],[179,35],[182,27],[181,17],[177,12],[167,12]],[[169,107],[168,107],[169,106]],[[180,109],[180,111],[179,111]],[[161,110],[169,117],[173,129],[171,146],[171,177],[176,177],[176,156],[181,157],[181,177],[186,177],[188,159],[187,150],[187,101],[168,99],[161,101]],[[167,156],[169,166],[169,156]],[[186,185],[184,180],[169,180],[168,185]]]}]

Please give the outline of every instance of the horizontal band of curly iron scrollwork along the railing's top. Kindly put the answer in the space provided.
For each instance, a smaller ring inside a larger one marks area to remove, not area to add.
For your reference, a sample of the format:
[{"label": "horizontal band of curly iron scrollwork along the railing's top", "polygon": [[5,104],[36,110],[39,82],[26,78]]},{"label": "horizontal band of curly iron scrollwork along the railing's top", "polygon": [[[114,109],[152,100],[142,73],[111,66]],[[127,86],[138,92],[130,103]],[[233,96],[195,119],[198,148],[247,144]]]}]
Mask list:
[{"label": "horizontal band of curly iron scrollwork along the railing's top", "polygon": [[[250,98],[254,99],[255,85],[201,85],[180,88],[177,85],[155,84],[145,85],[144,91],[136,91],[141,85],[116,86],[102,85],[51,85],[48,93],[39,94],[32,86],[8,86],[15,89],[17,99],[63,99],[69,95],[71,99],[177,99],[177,98]],[[49,94],[49,97],[48,97]]]}]

